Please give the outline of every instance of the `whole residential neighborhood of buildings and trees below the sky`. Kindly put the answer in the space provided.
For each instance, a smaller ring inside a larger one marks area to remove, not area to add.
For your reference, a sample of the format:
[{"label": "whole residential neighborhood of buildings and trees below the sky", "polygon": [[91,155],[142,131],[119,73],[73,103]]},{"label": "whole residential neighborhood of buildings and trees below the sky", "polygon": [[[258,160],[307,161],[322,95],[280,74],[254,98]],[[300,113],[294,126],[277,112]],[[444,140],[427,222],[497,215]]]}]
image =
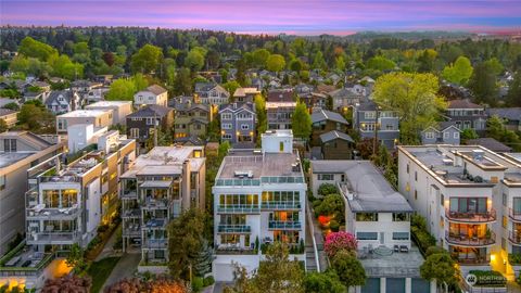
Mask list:
[{"label": "whole residential neighborhood of buildings and trees below the sky", "polygon": [[2,25],[0,292],[521,292],[519,36],[233,31]]}]

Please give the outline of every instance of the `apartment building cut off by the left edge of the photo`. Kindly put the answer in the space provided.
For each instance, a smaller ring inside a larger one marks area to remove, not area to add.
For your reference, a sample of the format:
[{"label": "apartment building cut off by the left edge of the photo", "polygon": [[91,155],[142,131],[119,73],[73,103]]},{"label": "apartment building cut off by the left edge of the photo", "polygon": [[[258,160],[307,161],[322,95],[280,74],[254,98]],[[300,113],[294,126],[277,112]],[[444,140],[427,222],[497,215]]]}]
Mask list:
[{"label": "apartment building cut off by the left edge of the photo", "polygon": [[0,255],[25,231],[27,169],[55,155],[63,145],[26,131],[0,133]]}]

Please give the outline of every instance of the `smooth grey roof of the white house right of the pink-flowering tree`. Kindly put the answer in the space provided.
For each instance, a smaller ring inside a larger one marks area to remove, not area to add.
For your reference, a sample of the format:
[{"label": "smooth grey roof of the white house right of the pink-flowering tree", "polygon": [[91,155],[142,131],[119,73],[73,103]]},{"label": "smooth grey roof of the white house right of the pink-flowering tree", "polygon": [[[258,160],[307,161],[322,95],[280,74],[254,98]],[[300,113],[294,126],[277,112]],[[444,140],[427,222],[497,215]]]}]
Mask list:
[{"label": "smooth grey roof of the white house right of the pink-flowering tree", "polygon": [[[333,161],[326,161],[326,164]],[[408,212],[412,207],[369,161],[340,161],[345,182],[340,184],[353,212]]]}]

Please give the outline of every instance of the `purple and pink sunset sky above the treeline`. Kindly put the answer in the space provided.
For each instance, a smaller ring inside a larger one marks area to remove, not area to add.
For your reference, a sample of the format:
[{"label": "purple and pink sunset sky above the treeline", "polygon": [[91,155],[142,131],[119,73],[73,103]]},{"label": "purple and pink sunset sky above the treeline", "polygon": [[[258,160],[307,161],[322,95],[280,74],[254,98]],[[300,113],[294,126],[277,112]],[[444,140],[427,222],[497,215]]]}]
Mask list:
[{"label": "purple and pink sunset sky above the treeline", "polygon": [[520,31],[521,0],[0,0],[0,24],[274,35]]}]

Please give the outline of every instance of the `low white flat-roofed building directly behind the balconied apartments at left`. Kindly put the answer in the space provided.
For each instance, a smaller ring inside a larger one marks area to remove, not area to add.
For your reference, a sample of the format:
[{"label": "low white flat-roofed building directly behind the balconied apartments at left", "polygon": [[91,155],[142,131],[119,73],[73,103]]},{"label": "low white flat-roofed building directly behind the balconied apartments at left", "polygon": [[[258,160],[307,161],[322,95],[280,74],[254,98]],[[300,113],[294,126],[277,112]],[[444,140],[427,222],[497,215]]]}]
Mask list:
[{"label": "low white flat-roofed building directly behind the balconied apartments at left", "polygon": [[78,124],[91,124],[97,128],[110,127],[113,122],[112,110],[76,110],[56,116],[56,132],[65,133],[67,128]]}]

